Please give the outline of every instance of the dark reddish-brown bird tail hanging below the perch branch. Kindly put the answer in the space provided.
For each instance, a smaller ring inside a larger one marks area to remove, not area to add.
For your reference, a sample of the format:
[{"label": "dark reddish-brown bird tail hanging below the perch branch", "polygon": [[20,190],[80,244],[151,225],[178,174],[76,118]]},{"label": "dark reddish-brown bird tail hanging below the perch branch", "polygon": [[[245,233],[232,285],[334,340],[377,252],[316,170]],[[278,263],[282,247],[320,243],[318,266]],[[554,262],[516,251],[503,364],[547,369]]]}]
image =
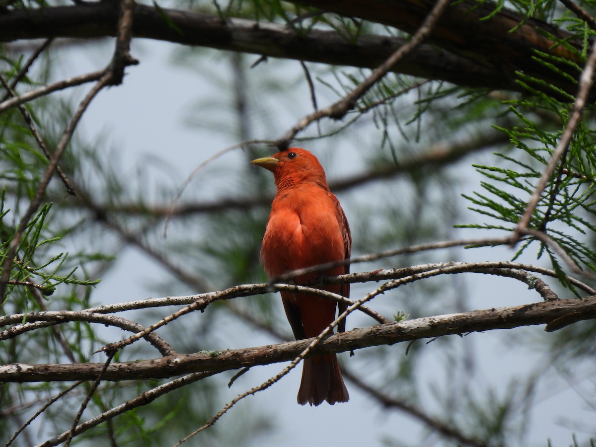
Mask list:
[{"label": "dark reddish-brown bird tail hanging below the perch branch", "polygon": [[349,399],[335,354],[304,360],[298,392],[300,405],[320,405],[323,401],[333,405],[336,402],[347,402]]}]

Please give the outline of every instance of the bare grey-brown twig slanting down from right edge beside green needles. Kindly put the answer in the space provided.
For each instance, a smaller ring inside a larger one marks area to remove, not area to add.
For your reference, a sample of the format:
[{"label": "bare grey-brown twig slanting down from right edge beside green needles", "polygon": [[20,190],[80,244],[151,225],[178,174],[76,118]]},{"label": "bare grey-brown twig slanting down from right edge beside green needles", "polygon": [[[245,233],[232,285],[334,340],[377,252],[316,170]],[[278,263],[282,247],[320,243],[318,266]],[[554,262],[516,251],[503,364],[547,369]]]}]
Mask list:
[{"label": "bare grey-brown twig slanting down from right edge beside green needles", "polygon": [[542,192],[547,187],[548,182],[551,179],[552,172],[554,172],[557,163],[561,159],[564,153],[567,152],[569,149],[569,142],[571,141],[573,134],[575,133],[575,129],[577,128],[580,120],[582,119],[583,114],[583,107],[585,106],[586,99],[588,98],[590,89],[592,88],[592,83],[594,81],[594,66],[596,65],[596,40],[592,44],[590,49],[590,53],[588,55],[588,60],[586,61],[586,65],[583,68],[582,75],[579,77],[579,89],[578,94],[576,95],[575,102],[573,103],[573,108],[567,121],[567,125],[561,135],[557,147],[552,152],[552,157],[548,166],[545,168],[544,172],[542,172],[542,176],[538,181],[538,185],[530,197],[530,200],[527,204],[526,211],[524,212],[522,218],[520,219],[519,223],[517,224],[516,231],[511,238],[511,245],[515,245],[519,238],[524,232],[528,229],[528,225],[530,223],[530,219],[532,218],[532,214],[538,206],[538,202],[540,201]]}]

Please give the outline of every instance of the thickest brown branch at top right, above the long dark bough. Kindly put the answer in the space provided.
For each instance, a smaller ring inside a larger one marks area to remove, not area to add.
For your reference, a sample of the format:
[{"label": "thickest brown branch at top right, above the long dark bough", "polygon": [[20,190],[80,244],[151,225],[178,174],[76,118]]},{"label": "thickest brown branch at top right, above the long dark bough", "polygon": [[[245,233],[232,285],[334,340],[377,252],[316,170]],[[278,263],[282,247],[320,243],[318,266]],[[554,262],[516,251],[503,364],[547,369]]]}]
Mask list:
[{"label": "thickest brown branch at top right, above the long dark bough", "polygon": [[[436,0],[293,0],[293,3],[346,17],[364,18],[413,33]],[[504,78],[504,83],[514,84],[516,71],[521,71],[575,94],[576,86],[564,79],[564,75],[541,68],[541,63],[535,59],[535,50],[582,64],[581,43],[571,41],[564,30],[535,18],[505,8],[499,8],[495,14],[497,8],[498,5],[491,1],[457,2],[445,11],[429,42],[491,69]],[[559,43],[564,40],[567,40],[565,45]],[[579,76],[564,64],[555,63],[555,66],[572,75],[573,79]]]}]

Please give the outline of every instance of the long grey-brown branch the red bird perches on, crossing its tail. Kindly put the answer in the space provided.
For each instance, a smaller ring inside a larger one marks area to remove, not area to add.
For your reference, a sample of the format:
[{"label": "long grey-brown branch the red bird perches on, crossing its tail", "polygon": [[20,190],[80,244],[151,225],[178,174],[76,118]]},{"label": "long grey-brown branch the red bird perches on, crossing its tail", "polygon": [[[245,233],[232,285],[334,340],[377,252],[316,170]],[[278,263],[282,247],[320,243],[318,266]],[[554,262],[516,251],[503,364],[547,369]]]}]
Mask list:
[{"label": "long grey-brown branch the red bird perches on, crossing its tail", "polygon": [[[584,300],[555,300],[509,308],[439,315],[354,329],[322,340],[312,350],[311,355],[346,352],[381,344],[392,345],[411,340],[461,335],[476,331],[486,332],[548,324],[569,314],[573,314],[576,321],[596,318],[596,296]],[[103,377],[104,380],[166,378],[198,372],[220,373],[238,368],[285,362],[300,355],[312,343],[312,340],[230,349],[224,352],[179,354],[144,361],[113,363],[108,366]],[[0,367],[0,381],[22,383],[95,380],[103,368],[103,363],[3,365]]]}]

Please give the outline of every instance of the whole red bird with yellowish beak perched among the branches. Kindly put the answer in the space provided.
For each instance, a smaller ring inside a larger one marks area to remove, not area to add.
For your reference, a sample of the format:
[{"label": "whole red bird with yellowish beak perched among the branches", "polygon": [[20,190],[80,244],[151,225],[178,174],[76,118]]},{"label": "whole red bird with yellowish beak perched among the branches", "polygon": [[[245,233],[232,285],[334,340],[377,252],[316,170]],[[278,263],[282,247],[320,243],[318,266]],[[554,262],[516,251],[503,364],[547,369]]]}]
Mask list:
[{"label": "whole red bird with yellowish beak perched among the branches", "polygon": [[[251,163],[273,172],[277,194],[271,204],[260,257],[269,278],[288,271],[350,257],[352,236],[346,215],[331,194],[319,160],[307,150],[290,148]],[[349,272],[341,265],[295,278],[306,282],[321,275]],[[349,297],[350,285],[324,290]],[[311,294],[281,292],[285,315],[296,340],[318,336],[335,319],[337,302]],[[339,306],[340,312],[346,305]],[[345,329],[345,322],[339,331]],[[349,395],[335,354],[304,360],[298,403],[347,402]]]}]

